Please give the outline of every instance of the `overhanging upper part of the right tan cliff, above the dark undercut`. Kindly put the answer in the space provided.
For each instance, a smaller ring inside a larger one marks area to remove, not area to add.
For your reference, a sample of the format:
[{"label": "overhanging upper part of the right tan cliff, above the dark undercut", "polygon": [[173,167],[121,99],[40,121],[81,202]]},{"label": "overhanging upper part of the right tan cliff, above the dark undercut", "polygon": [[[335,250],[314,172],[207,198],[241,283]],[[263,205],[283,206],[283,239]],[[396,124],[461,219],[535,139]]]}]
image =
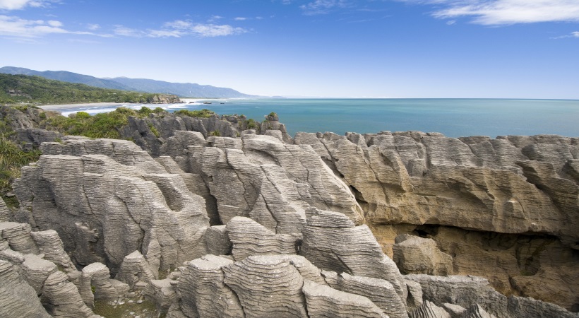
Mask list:
[{"label": "overhanging upper part of the right tan cliff, above the dark undercut", "polygon": [[576,138],[453,139],[417,131],[317,137],[299,133],[295,143],[312,145],[355,189],[368,223],[579,238],[578,185],[567,172],[579,155]]}]

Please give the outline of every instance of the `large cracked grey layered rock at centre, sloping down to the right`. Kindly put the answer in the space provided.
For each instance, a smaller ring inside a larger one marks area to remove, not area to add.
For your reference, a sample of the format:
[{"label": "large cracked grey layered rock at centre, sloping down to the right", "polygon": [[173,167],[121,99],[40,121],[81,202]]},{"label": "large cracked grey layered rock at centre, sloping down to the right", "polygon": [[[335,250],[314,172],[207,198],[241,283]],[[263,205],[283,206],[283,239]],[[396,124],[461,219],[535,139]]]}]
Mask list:
[{"label": "large cracked grey layered rock at centre, sloping down to the right", "polygon": [[201,172],[222,224],[245,216],[279,234],[299,233],[310,206],[362,223],[354,196],[309,146],[246,134],[210,137],[208,146],[189,146],[189,155],[186,172]]}]

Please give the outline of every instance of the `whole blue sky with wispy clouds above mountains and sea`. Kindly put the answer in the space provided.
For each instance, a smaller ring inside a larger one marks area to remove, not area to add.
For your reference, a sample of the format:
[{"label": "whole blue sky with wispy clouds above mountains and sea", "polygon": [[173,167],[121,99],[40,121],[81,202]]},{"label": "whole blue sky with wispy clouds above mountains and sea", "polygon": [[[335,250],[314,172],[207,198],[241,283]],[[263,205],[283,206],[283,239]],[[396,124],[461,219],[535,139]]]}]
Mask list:
[{"label": "whole blue sky with wispy clouds above mountains and sea", "polygon": [[256,95],[579,99],[579,0],[0,0],[0,66]]}]

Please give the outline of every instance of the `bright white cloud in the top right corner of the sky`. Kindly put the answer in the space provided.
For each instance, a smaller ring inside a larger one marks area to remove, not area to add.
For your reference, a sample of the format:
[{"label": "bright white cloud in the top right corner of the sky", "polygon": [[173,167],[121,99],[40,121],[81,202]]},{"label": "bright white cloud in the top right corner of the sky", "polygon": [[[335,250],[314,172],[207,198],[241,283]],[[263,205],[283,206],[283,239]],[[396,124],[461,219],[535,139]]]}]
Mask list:
[{"label": "bright white cloud in the top right corner of the sky", "polygon": [[577,0],[402,0],[434,4],[436,18],[470,17],[481,25],[537,22],[578,22]]}]

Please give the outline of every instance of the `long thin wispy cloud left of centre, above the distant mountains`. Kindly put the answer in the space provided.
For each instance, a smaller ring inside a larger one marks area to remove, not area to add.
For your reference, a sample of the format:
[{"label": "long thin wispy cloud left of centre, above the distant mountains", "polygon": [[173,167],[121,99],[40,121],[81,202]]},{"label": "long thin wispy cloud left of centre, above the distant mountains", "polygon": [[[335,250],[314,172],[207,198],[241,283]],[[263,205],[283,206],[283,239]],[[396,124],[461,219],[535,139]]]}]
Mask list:
[{"label": "long thin wispy cloud left of centre, above the distant mountains", "polygon": [[223,37],[246,33],[244,28],[236,28],[231,25],[217,25],[213,23],[192,23],[185,20],[174,20],[164,23],[160,30],[136,30],[116,25],[114,34],[126,37]]}]

